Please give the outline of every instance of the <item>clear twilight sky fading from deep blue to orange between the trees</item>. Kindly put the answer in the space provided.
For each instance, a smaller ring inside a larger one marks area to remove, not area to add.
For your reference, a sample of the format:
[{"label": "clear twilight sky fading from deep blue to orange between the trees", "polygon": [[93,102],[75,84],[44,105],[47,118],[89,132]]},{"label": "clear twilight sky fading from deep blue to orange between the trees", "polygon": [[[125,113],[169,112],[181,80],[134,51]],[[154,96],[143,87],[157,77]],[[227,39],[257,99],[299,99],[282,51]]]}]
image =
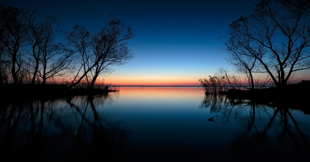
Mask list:
[{"label": "clear twilight sky fading from deep blue to orange between the trees", "polygon": [[98,30],[110,17],[130,26],[134,55],[114,66],[104,82],[135,86],[196,86],[218,68],[231,66],[218,40],[229,24],[254,10],[258,0],[2,0],[5,5],[36,8],[59,19],[59,30],[82,25]]}]

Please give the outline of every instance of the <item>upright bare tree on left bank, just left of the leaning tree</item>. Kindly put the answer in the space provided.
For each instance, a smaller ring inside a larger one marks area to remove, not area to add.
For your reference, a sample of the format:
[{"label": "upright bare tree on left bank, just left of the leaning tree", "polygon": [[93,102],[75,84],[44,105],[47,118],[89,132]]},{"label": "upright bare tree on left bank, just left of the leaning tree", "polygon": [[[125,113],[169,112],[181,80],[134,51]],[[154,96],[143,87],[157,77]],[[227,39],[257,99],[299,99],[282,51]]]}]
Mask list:
[{"label": "upright bare tree on left bank, just left of the leaning tree", "polygon": [[31,46],[31,83],[34,84],[38,78],[38,81],[41,79],[42,84],[45,84],[48,79],[65,76],[69,72],[73,53],[66,51],[61,43],[55,43],[58,34],[56,18],[47,16],[40,23],[36,22],[31,14],[27,20],[30,27],[28,35]]}]

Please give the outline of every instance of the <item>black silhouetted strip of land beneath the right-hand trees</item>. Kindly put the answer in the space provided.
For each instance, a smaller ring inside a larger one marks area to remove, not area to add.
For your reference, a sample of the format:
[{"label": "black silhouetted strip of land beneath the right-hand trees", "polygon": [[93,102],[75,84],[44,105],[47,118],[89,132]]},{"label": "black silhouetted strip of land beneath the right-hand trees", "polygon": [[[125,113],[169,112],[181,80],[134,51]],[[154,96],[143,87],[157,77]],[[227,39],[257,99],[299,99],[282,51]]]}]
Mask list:
[{"label": "black silhouetted strip of land beneath the right-hand trees", "polygon": [[[227,95],[231,104],[242,104],[248,100],[252,104],[299,109],[306,114],[310,114],[310,108],[307,107],[310,99],[310,81],[287,84],[283,87],[267,87],[253,90],[231,88],[226,91],[219,91],[218,94]],[[210,94],[206,93],[206,95]]]}]

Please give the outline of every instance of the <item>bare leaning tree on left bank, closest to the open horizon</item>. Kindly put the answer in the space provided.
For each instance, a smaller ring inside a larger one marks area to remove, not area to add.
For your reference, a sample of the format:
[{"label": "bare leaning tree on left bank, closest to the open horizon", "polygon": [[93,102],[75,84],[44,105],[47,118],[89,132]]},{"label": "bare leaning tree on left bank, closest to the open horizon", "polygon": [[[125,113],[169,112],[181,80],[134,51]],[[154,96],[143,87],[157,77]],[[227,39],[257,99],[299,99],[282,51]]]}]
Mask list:
[{"label": "bare leaning tree on left bank, closest to the open horizon", "polygon": [[98,32],[89,32],[76,25],[73,31],[65,32],[66,39],[77,53],[77,72],[70,81],[69,88],[86,79],[88,88],[93,88],[100,74],[109,73],[110,66],[126,63],[133,55],[127,40],[134,37],[130,27],[111,17]]}]

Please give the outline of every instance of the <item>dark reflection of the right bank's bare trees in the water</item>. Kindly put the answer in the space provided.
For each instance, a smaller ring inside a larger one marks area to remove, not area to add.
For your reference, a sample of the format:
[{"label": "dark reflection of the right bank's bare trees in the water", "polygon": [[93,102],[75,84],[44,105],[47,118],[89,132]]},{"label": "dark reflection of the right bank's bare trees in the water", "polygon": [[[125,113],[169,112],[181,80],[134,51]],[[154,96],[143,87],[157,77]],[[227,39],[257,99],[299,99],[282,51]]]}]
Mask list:
[{"label": "dark reflection of the right bank's bare trees in the water", "polygon": [[[221,100],[219,100],[221,99]],[[232,159],[239,161],[296,161],[308,159],[310,123],[294,116],[285,104],[257,104],[250,100],[206,96],[202,108],[210,108],[222,117],[234,119],[245,132],[232,143]]]}]

